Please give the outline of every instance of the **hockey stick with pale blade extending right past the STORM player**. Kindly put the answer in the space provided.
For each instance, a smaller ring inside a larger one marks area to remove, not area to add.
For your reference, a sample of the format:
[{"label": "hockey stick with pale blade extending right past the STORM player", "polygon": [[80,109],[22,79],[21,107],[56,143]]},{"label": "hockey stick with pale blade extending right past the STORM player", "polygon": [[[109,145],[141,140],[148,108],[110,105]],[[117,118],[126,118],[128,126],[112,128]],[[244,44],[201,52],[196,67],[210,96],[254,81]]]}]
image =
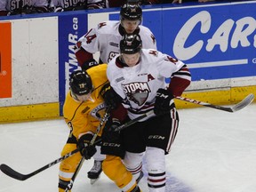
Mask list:
[{"label": "hockey stick with pale blade extending right past the STORM player", "polygon": [[245,97],[244,100],[240,101],[239,103],[237,103],[236,105],[234,105],[232,107],[222,107],[222,106],[212,105],[210,103],[206,103],[206,102],[203,102],[203,101],[200,101],[200,100],[192,100],[192,99],[184,98],[184,97],[180,97],[180,96],[176,96],[175,98],[178,99],[178,100],[188,101],[190,103],[202,105],[202,106],[205,106],[205,107],[216,108],[216,109],[220,109],[220,110],[223,110],[223,111],[228,111],[228,112],[233,113],[233,112],[236,112],[236,111],[250,105],[252,103],[252,101],[254,100],[254,95],[252,93],[247,95],[247,97]]}]

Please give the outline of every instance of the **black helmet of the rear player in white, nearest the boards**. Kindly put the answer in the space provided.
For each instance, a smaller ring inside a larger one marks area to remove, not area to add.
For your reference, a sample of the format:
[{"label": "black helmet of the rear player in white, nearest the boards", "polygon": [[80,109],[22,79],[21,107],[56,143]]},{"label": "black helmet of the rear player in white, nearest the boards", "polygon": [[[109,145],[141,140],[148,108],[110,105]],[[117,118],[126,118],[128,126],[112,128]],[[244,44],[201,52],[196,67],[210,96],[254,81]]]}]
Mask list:
[{"label": "black helmet of the rear player in white, nearest the boards", "polygon": [[121,7],[120,20],[140,20],[142,18],[142,10],[139,4],[126,3]]}]

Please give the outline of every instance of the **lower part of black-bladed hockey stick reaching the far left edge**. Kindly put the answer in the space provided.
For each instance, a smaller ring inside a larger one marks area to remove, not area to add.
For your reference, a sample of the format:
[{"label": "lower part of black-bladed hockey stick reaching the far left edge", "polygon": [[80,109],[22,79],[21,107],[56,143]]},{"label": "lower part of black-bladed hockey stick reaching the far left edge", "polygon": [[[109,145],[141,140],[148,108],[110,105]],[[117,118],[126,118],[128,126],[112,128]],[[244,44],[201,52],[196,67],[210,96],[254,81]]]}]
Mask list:
[{"label": "lower part of black-bladed hockey stick reaching the far left edge", "polygon": [[29,174],[21,174],[20,172],[16,172],[10,166],[8,166],[6,164],[1,164],[0,165],[0,170],[2,172],[4,172],[6,175],[8,175],[9,177],[12,177],[15,180],[27,180],[28,178],[36,175],[37,173],[43,172],[45,169],[48,169],[48,168],[52,167],[54,164],[59,164],[61,161],[63,161],[64,159],[68,158],[69,156],[73,156],[78,151],[79,151],[79,149],[76,148],[75,150],[69,152],[65,156],[61,156],[60,158],[56,159],[52,163],[46,164],[43,167],[41,167],[40,169],[36,170],[35,172],[31,172]]}]

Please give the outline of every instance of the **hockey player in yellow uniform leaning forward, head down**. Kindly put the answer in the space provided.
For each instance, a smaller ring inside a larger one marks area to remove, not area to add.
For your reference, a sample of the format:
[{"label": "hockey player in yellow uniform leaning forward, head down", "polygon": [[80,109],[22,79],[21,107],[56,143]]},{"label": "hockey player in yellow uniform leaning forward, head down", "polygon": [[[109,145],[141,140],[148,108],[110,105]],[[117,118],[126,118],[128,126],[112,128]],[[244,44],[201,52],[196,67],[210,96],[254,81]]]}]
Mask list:
[{"label": "hockey player in yellow uniform leaning forward, head down", "polygon": [[[95,146],[90,145],[90,142],[97,132],[100,118],[106,112],[107,107],[104,98],[113,95],[108,86],[106,70],[107,64],[101,64],[89,68],[87,71],[76,70],[70,76],[70,90],[63,107],[63,116],[70,133],[61,151],[61,156],[76,148],[79,148],[80,153],[76,153],[61,162],[59,192],[64,192],[68,187],[82,156],[85,159],[90,159],[96,153]],[[101,131],[99,137],[100,135]],[[84,163],[86,164],[86,161]],[[116,186],[122,191],[140,192],[136,180],[132,179],[132,173],[127,171],[119,156],[106,156],[103,164],[103,172],[108,178],[114,180]]]}]

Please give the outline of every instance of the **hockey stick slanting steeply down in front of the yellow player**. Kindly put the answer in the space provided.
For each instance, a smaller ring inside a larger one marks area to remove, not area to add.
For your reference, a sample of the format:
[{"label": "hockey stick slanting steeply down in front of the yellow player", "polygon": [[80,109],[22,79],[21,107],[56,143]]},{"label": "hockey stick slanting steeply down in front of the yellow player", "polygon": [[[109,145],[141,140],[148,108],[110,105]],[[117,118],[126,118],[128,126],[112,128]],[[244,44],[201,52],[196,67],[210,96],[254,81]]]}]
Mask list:
[{"label": "hockey stick slanting steeply down in front of the yellow player", "polygon": [[[91,140],[91,142],[90,142],[90,144],[89,144],[90,146],[92,146],[92,145],[95,144],[94,142],[95,142],[97,136],[99,135],[99,132],[100,132],[100,130],[101,130],[101,128],[102,128],[102,125],[103,125],[105,122],[107,122],[108,117],[110,116],[110,115],[109,115],[109,111],[110,111],[110,108],[107,108],[105,115],[101,118],[100,124],[99,124],[99,126],[97,127],[97,130],[96,130],[96,132],[94,133],[94,135],[93,135],[93,137],[92,137],[92,140]],[[76,176],[77,176],[78,172],[80,171],[82,165],[84,164],[84,160],[85,160],[85,158],[84,158],[84,156],[82,156],[82,158],[81,158],[79,164],[78,164],[77,167],[76,167],[76,171],[74,172],[74,174],[73,174],[71,180],[70,180],[69,183],[68,183],[67,188],[65,189],[65,192],[68,192],[68,190],[71,190],[71,188],[73,188],[74,181],[76,180]]]}]

